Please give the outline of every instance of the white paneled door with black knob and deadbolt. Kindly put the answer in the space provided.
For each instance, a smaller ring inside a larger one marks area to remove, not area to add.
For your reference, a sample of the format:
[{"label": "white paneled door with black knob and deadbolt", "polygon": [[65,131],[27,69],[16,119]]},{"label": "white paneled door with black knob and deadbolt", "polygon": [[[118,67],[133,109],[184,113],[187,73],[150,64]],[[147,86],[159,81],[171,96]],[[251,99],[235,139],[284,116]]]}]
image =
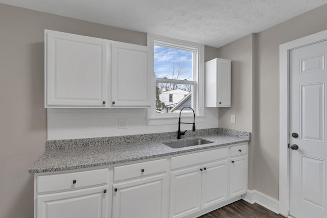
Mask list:
[{"label": "white paneled door with black knob and deadbolt", "polygon": [[327,217],[327,41],[290,51],[290,215]]}]

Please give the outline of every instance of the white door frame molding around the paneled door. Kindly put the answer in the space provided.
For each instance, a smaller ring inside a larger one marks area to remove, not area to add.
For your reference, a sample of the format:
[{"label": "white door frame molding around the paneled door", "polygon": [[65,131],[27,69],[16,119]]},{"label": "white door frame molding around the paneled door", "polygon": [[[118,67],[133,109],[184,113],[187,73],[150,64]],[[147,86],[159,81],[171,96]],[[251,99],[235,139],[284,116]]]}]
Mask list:
[{"label": "white door frame molding around the paneled door", "polygon": [[279,213],[289,215],[289,52],[327,40],[327,30],[279,45]]}]

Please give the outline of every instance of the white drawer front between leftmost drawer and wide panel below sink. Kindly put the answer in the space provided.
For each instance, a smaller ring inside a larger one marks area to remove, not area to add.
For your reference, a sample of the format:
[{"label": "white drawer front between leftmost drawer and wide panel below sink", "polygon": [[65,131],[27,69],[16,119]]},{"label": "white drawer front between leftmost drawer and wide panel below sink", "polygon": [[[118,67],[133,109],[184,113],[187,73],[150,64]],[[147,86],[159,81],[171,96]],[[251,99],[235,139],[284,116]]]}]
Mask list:
[{"label": "white drawer front between leftmost drawer and wide panel below sink", "polygon": [[133,163],[113,168],[113,181],[131,179],[167,171],[167,159]]}]

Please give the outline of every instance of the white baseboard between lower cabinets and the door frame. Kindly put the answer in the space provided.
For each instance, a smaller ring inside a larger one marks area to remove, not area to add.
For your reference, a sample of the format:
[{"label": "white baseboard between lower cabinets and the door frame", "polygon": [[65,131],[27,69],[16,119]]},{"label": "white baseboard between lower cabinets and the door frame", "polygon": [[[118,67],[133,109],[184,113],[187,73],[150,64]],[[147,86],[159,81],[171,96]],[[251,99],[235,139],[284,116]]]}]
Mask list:
[{"label": "white baseboard between lower cabinets and the door frame", "polygon": [[279,214],[279,202],[257,190],[247,190],[247,193],[242,196],[242,199],[250,204],[260,204],[272,212]]}]

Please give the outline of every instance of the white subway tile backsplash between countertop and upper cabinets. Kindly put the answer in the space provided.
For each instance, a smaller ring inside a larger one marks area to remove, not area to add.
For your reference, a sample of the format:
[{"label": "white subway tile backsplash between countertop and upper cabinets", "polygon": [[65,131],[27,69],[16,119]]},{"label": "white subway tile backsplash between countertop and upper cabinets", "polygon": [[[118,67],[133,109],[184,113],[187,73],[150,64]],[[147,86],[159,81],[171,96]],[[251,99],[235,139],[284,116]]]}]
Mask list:
[{"label": "white subway tile backsplash between countertop and upper cabinets", "polygon": [[[72,109],[48,108],[48,140],[82,139],[173,132],[178,129],[178,118],[173,125],[147,125],[145,108]],[[202,123],[197,130],[218,127],[218,110],[205,109]],[[118,128],[118,120],[126,119],[126,128]],[[192,125],[183,130],[192,129]]]}]

